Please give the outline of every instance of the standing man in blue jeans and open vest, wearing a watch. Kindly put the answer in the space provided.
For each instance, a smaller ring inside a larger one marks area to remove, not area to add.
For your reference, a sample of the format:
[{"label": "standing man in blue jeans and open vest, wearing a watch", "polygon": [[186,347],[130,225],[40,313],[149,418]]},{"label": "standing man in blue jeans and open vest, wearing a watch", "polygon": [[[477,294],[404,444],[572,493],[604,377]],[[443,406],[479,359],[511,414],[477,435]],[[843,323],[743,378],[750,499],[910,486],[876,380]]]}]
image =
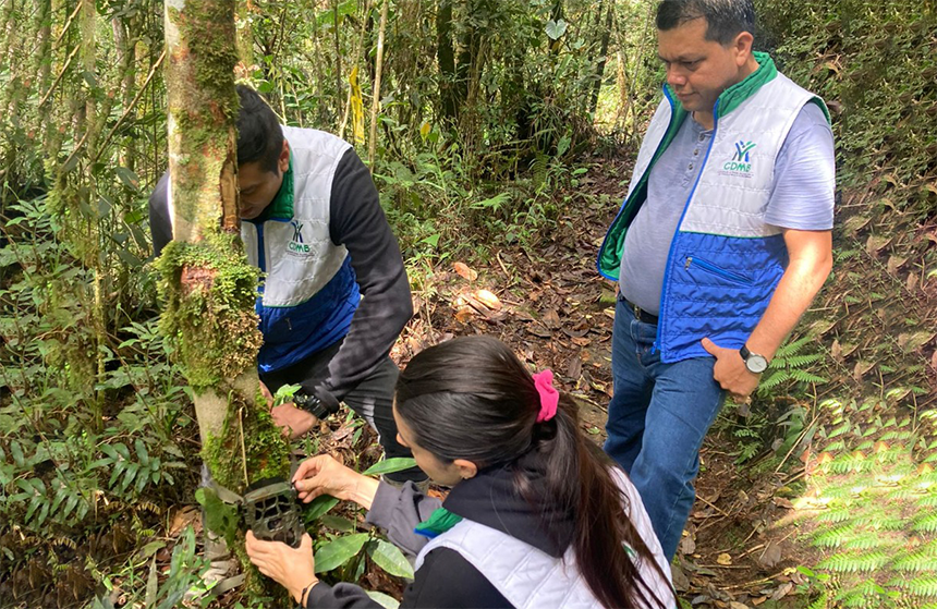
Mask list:
[{"label": "standing man in blue jeans and open vest, wearing a watch", "polygon": [[598,255],[619,280],[605,450],[672,559],[699,448],[758,386],[832,265],[835,160],[815,95],[753,52],[751,0],[664,0],[665,99]]}]

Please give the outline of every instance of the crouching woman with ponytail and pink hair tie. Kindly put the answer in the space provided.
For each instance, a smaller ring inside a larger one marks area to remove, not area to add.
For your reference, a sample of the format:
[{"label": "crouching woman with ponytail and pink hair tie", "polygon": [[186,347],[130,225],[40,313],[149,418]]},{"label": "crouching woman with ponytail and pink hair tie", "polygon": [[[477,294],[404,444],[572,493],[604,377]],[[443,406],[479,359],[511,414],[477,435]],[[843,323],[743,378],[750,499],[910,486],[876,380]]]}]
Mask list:
[{"label": "crouching woman with ponytail and pink hair tie", "polygon": [[[413,357],[397,383],[400,442],[448,498],[379,483],[320,455],[293,477],[415,556],[401,609],[672,609],[670,568],[637,491],[580,431],[576,404],[502,342],[465,337]],[[247,553],[301,606],[377,609],[360,587],[315,577],[299,549],[248,533]]]}]

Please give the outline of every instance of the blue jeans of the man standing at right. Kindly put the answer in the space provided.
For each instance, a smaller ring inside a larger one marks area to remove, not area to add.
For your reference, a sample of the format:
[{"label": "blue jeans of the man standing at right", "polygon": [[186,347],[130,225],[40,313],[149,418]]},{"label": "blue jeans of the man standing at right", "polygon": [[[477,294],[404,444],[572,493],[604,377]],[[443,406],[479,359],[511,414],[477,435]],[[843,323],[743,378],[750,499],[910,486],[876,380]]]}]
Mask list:
[{"label": "blue jeans of the man standing at right", "polygon": [[657,325],[637,320],[619,297],[605,451],[631,476],[670,560],[696,498],[699,448],[726,392],[713,379],[715,358],[661,363],[656,334]]}]

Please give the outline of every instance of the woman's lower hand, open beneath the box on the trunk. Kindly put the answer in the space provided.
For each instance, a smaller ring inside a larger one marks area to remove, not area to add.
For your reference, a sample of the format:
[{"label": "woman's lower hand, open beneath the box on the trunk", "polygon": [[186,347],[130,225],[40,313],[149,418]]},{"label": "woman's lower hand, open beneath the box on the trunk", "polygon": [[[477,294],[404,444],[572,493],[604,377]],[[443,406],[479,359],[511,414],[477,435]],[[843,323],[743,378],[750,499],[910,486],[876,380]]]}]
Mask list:
[{"label": "woman's lower hand, open beneath the box on the trunk", "polygon": [[303,535],[299,548],[291,548],[282,541],[261,541],[247,532],[245,543],[247,556],[260,573],[270,577],[290,593],[290,596],[303,604],[303,589],[312,589],[319,583],[316,577],[316,563],[313,559],[313,538],[308,533]]}]

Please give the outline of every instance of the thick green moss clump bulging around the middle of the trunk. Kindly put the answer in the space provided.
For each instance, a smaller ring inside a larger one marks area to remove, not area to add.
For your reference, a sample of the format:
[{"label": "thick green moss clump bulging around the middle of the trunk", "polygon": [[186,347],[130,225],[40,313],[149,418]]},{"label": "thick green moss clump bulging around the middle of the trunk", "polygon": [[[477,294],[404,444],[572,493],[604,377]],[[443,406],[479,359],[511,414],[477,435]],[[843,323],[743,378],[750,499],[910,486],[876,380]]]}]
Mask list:
[{"label": "thick green moss clump bulging around the middle of the trunk", "polygon": [[235,239],[216,231],[195,244],[171,242],[156,263],[166,301],[160,330],[196,392],[252,368],[263,342],[254,313],[259,271]]}]

